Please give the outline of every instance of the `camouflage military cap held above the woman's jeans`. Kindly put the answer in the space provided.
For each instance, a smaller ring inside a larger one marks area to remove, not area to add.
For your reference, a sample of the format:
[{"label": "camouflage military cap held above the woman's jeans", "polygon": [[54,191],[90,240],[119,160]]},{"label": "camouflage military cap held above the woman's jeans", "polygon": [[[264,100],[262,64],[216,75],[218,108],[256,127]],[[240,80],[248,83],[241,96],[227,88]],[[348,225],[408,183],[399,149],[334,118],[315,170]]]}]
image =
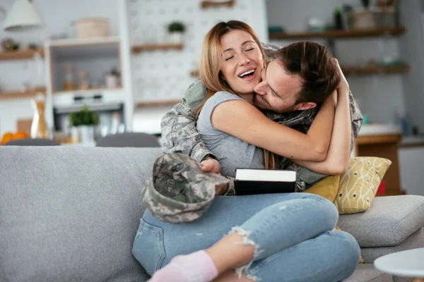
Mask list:
[{"label": "camouflage military cap held above the woman's jeans", "polygon": [[143,189],[143,201],[161,221],[194,221],[211,206],[216,189],[229,182],[216,173],[202,171],[199,161],[187,155],[163,154],[153,164],[153,176]]}]

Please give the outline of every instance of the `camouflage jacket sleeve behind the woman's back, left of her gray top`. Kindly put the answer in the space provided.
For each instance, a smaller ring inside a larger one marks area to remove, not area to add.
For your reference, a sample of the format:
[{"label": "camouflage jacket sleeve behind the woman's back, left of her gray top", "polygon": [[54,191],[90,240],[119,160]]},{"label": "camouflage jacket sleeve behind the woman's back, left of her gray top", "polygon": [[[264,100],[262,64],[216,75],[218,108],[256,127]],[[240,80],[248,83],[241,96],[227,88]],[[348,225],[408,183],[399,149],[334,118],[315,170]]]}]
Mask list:
[{"label": "camouflage jacket sleeve behind the woman's back, left of her gray top", "polygon": [[207,156],[216,158],[201,140],[193,114],[193,110],[201,103],[205,94],[203,84],[200,80],[196,80],[187,89],[185,97],[179,104],[163,116],[160,129],[164,153],[182,153],[196,161],[202,161]]}]

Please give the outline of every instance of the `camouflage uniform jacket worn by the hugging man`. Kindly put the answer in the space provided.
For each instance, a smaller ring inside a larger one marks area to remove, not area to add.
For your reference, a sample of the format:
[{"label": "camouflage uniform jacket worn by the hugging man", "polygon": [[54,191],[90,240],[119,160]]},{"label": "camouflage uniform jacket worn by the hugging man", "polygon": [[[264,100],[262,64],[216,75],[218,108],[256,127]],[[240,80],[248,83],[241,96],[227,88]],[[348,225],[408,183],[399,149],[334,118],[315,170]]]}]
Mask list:
[{"label": "camouflage uniform jacket worn by the hugging man", "polygon": [[[264,47],[267,59],[275,59],[275,57],[273,57],[273,51],[276,51],[279,47],[270,44],[262,44],[262,47]],[[206,88],[200,79],[196,80],[187,89],[184,94],[184,98],[179,102],[179,104],[175,105],[171,111],[163,116],[161,130],[164,153],[179,152],[187,154],[197,161],[205,161],[211,158],[218,160],[218,158],[206,147],[204,141],[201,140],[201,135],[196,130],[194,109],[201,104],[205,96]],[[349,93],[349,99],[351,102],[352,151],[355,139],[358,137],[360,126],[363,122],[363,116],[360,113],[358,104],[356,104],[355,99],[353,99],[351,92]],[[317,107],[314,107],[313,109],[301,111],[300,113],[293,112],[289,114],[278,114],[267,111],[264,114],[277,123],[281,123],[289,126],[290,128],[295,128],[303,133],[307,133],[307,130],[309,130],[310,125],[312,125],[312,121],[317,115],[317,112]],[[284,157],[278,158],[278,168],[297,171],[298,181],[296,183],[296,190],[298,192],[305,191],[307,188],[314,185],[314,183],[326,178],[326,175],[298,166]],[[233,192],[234,190],[230,189],[228,193],[232,194]]]}]

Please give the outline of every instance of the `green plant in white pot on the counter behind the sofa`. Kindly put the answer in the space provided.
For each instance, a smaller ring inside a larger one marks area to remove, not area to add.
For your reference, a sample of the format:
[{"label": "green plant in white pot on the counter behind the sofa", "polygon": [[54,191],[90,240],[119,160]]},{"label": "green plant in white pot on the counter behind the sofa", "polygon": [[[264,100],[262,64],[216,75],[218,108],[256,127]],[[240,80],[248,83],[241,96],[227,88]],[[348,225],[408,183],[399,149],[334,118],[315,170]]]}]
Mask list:
[{"label": "green plant in white pot on the counter behind the sofa", "polygon": [[87,105],[83,106],[80,111],[69,114],[69,125],[73,128],[73,141],[76,142],[79,139],[79,142],[83,145],[94,144],[94,128],[98,123],[98,114],[88,109]]}]

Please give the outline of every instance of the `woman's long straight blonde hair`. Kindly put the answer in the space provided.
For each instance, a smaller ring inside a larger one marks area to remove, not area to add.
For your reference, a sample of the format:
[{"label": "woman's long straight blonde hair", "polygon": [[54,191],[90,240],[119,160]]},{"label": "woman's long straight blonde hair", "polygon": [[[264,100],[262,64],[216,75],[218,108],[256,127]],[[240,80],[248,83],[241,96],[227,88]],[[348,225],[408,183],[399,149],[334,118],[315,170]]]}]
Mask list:
[{"label": "woman's long straight blonde hair", "polygon": [[[223,73],[220,71],[222,61],[222,50],[220,46],[220,39],[231,30],[242,30],[252,36],[254,42],[259,47],[262,57],[265,61],[265,52],[261,47],[261,42],[256,32],[252,27],[240,20],[230,20],[228,22],[220,22],[212,27],[204,39],[203,48],[201,50],[201,60],[199,74],[202,82],[206,87],[206,97],[201,104],[194,110],[196,118],[199,118],[201,109],[206,101],[218,91],[226,91],[232,94],[235,92],[231,89],[230,85],[225,82]],[[266,169],[275,168],[275,155],[268,150],[264,149],[264,163]]]}]

